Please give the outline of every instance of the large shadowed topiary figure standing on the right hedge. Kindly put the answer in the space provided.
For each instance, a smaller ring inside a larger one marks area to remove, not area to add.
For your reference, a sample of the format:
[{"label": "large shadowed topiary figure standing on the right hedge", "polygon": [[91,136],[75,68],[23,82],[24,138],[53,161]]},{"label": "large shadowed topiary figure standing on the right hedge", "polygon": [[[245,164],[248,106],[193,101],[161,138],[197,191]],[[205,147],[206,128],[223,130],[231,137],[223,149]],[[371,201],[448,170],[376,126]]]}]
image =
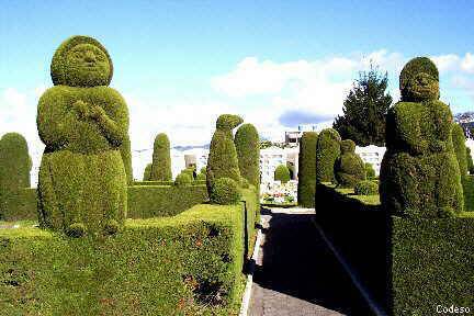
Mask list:
[{"label": "large shadowed topiary figure standing on the right hedge", "polygon": [[426,57],[402,70],[402,101],[386,117],[387,151],[381,168],[381,202],[399,216],[445,217],[463,210],[453,117],[439,101],[439,74]]}]

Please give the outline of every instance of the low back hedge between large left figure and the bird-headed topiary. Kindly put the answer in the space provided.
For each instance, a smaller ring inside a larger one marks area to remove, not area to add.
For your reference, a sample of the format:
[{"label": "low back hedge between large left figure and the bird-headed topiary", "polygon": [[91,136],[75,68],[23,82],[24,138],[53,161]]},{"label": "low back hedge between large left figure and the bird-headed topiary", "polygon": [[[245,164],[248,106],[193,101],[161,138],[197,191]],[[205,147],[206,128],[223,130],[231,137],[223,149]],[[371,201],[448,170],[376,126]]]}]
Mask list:
[{"label": "low back hedge between large left figure and the bird-headed topiary", "polygon": [[128,187],[128,218],[173,216],[208,200],[205,185]]}]

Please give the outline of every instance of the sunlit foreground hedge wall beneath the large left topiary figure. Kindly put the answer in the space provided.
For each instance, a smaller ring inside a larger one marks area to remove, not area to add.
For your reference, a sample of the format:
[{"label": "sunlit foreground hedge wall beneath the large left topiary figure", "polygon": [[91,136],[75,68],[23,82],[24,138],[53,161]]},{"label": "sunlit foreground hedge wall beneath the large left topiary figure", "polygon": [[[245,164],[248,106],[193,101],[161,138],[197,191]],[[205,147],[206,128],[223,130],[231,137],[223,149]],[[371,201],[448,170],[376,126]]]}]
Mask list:
[{"label": "sunlit foreground hedge wall beneath the large left topiary figure", "polygon": [[237,315],[244,219],[241,205],[196,205],[170,218],[127,219],[123,233],[99,239],[0,229],[0,311]]}]

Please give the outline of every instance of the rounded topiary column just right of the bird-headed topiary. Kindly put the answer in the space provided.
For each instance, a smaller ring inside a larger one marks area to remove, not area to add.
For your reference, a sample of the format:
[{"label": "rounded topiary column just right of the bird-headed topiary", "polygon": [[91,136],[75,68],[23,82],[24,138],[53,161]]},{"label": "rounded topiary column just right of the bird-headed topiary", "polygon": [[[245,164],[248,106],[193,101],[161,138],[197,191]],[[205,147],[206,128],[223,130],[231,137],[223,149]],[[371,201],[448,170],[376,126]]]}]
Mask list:
[{"label": "rounded topiary column just right of the bird-headed topiary", "polygon": [[255,187],[260,187],[260,138],[252,124],[241,125],[234,139],[240,176]]}]

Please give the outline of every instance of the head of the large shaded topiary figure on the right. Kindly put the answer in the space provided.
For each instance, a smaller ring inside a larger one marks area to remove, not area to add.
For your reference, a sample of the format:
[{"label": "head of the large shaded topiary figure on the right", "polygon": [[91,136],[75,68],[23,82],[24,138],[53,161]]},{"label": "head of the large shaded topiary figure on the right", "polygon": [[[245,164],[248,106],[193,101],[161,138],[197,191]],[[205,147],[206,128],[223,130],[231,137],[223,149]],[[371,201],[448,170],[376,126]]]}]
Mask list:
[{"label": "head of the large shaded topiary figure on the right", "polygon": [[421,102],[439,99],[439,72],[435,63],[427,57],[408,61],[399,77],[402,101]]}]

